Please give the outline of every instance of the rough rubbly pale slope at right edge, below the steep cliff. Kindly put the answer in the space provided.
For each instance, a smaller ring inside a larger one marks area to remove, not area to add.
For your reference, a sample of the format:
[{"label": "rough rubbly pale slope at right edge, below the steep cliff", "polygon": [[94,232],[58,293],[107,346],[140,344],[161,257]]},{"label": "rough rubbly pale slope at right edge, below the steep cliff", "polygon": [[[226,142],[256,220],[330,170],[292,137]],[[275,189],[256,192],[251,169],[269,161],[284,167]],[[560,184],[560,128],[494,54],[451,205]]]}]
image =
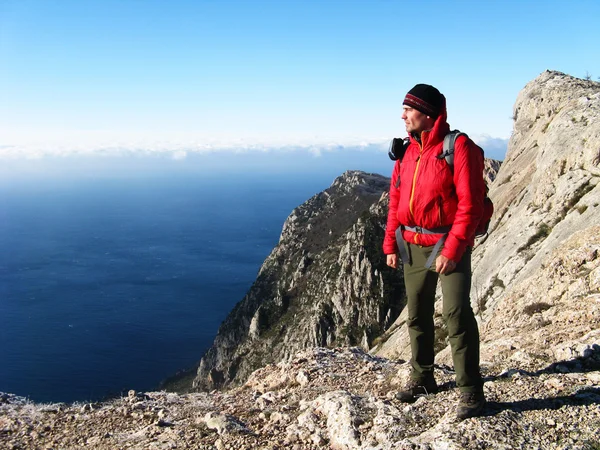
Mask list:
[{"label": "rough rubbly pale slope at right edge, below the steep cliff", "polygon": [[[533,288],[535,287],[535,288]],[[482,329],[485,364],[538,370],[600,350],[600,226],[575,233],[507,290]]]}]

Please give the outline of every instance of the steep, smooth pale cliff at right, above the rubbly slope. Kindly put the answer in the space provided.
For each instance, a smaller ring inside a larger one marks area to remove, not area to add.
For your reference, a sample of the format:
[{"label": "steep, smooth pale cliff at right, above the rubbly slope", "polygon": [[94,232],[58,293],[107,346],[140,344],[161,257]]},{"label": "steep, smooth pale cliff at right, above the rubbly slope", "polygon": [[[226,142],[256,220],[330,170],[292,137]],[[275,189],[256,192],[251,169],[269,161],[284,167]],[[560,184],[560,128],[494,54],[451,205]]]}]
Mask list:
[{"label": "steep, smooth pale cliff at right, above the rubbly slope", "polygon": [[576,231],[600,225],[600,83],[544,72],[519,93],[513,117],[490,191],[492,232],[474,257],[477,301],[493,291],[483,299],[485,319],[506,287],[534,274]]}]

